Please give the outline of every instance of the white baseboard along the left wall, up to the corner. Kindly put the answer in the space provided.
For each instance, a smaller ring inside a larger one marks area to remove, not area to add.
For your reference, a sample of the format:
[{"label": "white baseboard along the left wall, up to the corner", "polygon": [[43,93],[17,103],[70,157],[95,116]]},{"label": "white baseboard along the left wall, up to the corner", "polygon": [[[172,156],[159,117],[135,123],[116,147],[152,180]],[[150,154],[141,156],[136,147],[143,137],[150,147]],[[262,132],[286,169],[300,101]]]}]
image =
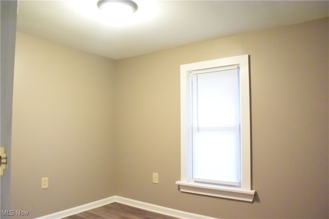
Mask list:
[{"label": "white baseboard along the left wall, up to the corner", "polygon": [[70,208],[64,211],[59,211],[53,214],[48,214],[42,217],[38,217],[36,219],[57,219],[57,218],[63,218],[63,217],[68,217],[70,215],[74,215],[74,214],[78,214],[81,213],[83,211],[88,211],[90,209],[93,208],[98,208],[101,207],[103,205],[107,205],[107,204],[111,204],[115,202],[115,197],[116,196],[111,196],[111,197],[107,197],[107,198],[103,198],[101,200],[98,200],[96,202],[90,202],[84,205],[80,205],[74,208]]}]

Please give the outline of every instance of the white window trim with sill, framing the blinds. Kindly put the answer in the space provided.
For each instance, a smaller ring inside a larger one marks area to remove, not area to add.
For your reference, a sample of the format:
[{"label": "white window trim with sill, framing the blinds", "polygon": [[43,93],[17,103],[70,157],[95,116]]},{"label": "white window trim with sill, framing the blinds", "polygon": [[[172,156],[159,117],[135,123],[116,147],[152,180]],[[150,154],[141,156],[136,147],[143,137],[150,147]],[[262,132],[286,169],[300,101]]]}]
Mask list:
[{"label": "white window trim with sill, framing the blinds", "polygon": [[[192,178],[192,150],[189,147],[190,124],[188,123],[188,72],[208,68],[240,65],[241,97],[241,188],[194,183]],[[252,202],[255,190],[251,190],[250,160],[250,106],[249,106],[249,55],[213,59],[180,66],[180,132],[181,132],[181,179],[176,184],[182,192],[204,194]]]}]

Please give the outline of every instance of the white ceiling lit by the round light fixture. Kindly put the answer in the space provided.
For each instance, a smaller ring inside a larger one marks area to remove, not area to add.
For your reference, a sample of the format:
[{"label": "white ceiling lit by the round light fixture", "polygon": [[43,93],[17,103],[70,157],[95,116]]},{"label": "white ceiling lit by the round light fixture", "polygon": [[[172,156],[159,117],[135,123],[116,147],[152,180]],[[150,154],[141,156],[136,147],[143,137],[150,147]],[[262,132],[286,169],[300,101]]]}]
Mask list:
[{"label": "white ceiling lit by the round light fixture", "polygon": [[118,25],[97,1],[19,1],[17,31],[121,59],[329,16],[329,1],[134,0],[138,10]]}]

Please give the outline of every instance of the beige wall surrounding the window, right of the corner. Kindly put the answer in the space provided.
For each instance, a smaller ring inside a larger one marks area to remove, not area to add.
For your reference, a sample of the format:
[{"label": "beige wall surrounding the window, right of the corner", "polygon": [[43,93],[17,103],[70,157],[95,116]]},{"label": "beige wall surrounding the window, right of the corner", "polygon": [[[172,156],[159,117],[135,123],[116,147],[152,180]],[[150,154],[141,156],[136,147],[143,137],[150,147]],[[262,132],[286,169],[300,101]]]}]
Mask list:
[{"label": "beige wall surrounding the window, right of the corner", "polygon": [[[117,195],[220,218],[327,218],[328,36],[325,19],[117,61]],[[179,65],[241,54],[255,201],[181,193]]]}]

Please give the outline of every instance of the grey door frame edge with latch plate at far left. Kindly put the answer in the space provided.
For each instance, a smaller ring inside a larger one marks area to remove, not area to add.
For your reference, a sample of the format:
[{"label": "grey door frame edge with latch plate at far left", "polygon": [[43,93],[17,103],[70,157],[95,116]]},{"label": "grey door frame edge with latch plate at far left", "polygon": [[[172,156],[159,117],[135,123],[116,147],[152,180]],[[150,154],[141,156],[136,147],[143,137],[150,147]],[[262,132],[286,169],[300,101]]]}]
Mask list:
[{"label": "grey door frame edge with latch plate at far left", "polygon": [[[0,178],[0,217],[9,218],[10,212],[10,164],[11,164],[11,122],[16,23],[18,1],[0,1],[1,10],[1,116],[0,143],[7,153],[7,168]],[[5,210],[8,210],[7,213]],[[7,214],[7,215],[6,215]]]}]

